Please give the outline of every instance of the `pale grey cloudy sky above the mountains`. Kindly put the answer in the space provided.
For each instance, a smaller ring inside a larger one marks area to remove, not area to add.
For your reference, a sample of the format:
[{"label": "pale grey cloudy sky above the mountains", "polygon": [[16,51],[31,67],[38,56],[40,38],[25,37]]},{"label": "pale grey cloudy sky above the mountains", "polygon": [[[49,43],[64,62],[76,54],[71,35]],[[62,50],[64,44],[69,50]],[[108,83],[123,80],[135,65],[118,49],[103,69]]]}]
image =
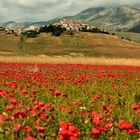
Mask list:
[{"label": "pale grey cloudy sky above the mountains", "polygon": [[137,3],[139,0],[0,0],[0,22],[48,21],[89,7]]}]

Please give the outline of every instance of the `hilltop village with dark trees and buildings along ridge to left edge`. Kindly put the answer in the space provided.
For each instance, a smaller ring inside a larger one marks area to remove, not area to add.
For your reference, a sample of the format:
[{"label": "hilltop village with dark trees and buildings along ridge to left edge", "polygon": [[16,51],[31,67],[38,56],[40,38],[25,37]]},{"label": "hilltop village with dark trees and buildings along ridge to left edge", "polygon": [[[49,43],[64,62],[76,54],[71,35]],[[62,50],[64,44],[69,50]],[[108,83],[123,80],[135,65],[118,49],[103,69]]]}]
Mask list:
[{"label": "hilltop village with dark trees and buildings along ridge to left edge", "polygon": [[[71,30],[71,31],[84,31],[84,32],[101,32],[101,33],[107,33],[107,31],[98,29],[95,26],[90,26],[88,24],[84,24],[78,20],[73,20],[73,19],[62,19],[60,22],[56,22],[54,24],[47,24],[43,26],[37,26],[37,25],[31,25],[27,28],[6,28],[6,27],[0,27],[0,32],[5,32],[6,34],[14,34],[15,36],[20,36],[21,34],[38,34],[40,32],[47,32],[48,28],[52,28],[57,30],[57,35],[60,35],[58,33],[58,30]],[[45,29],[45,30],[44,30]],[[47,29],[47,30],[46,30]],[[52,29],[51,29],[52,30]],[[48,31],[50,32],[50,31]],[[52,32],[52,31],[51,31]]]}]

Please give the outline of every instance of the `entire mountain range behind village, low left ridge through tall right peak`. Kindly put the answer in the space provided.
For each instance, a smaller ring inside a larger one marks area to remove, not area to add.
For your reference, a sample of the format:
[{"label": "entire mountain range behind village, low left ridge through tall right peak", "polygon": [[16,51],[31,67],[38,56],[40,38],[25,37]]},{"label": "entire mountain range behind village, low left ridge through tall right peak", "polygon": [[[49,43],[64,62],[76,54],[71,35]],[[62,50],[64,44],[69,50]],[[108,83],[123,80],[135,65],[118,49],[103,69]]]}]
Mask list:
[{"label": "entire mountain range behind village, low left ridge through tall right peak", "polygon": [[[137,5],[138,7],[140,5]],[[136,6],[134,6],[136,7]],[[136,31],[137,25],[140,24],[140,9],[130,6],[119,7],[92,7],[88,8],[74,16],[58,17],[43,22],[7,22],[3,24],[7,28],[28,28],[32,25],[43,26],[46,24],[56,23],[62,19],[75,19],[89,25],[107,30],[115,31]],[[135,27],[136,26],[136,27]],[[135,30],[131,30],[131,29]]]}]

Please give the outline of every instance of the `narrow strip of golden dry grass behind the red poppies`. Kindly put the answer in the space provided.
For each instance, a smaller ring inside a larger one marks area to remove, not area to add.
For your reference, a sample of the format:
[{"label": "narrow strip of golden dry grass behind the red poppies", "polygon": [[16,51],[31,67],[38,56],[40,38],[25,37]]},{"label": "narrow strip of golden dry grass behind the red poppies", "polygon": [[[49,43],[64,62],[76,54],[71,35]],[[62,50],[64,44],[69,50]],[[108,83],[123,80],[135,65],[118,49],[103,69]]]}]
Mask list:
[{"label": "narrow strip of golden dry grass behind the red poppies", "polygon": [[0,62],[33,63],[33,64],[97,64],[97,65],[125,65],[140,66],[140,59],[129,58],[105,58],[83,56],[0,56]]}]

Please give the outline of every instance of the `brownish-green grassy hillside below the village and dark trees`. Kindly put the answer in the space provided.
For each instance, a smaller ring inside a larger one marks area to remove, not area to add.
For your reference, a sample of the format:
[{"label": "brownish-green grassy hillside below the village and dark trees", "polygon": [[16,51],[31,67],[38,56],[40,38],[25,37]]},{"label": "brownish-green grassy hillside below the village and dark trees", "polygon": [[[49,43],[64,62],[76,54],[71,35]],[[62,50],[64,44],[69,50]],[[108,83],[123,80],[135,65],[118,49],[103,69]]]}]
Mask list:
[{"label": "brownish-green grassy hillside below the village and dark trees", "polygon": [[[0,52],[17,50],[18,38],[0,35]],[[60,37],[40,34],[26,40],[25,52],[46,55],[84,55],[140,58],[140,44],[122,40],[116,36],[92,33],[63,34]]]}]

